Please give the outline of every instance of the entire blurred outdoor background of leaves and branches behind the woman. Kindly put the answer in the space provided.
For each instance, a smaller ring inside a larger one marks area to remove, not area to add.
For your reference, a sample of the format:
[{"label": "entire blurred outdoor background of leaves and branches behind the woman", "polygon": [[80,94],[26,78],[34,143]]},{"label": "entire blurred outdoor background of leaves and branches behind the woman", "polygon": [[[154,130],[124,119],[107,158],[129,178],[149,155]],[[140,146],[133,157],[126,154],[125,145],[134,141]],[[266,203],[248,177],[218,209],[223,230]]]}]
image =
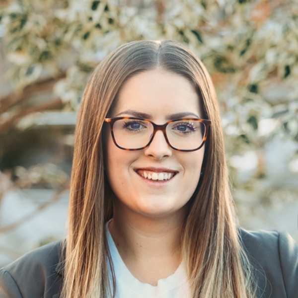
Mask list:
[{"label": "entire blurred outdoor background of leaves and branches behind the woman", "polygon": [[0,266],[66,234],[84,86],[142,39],[209,70],[240,225],[298,240],[297,0],[1,0]]}]

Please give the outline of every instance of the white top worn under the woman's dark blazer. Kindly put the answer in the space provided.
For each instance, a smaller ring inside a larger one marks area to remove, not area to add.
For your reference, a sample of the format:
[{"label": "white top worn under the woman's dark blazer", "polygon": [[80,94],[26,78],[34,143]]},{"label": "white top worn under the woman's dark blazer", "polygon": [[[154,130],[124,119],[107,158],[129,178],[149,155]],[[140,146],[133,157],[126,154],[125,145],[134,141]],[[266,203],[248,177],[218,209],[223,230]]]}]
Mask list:
[{"label": "white top worn under the woman's dark blazer", "polygon": [[[183,262],[174,274],[157,282],[157,286],[141,283],[124,264],[107,228],[108,245],[116,278],[115,298],[190,298],[189,284]],[[111,272],[109,271],[111,279]],[[111,281],[112,285],[112,281]]]}]

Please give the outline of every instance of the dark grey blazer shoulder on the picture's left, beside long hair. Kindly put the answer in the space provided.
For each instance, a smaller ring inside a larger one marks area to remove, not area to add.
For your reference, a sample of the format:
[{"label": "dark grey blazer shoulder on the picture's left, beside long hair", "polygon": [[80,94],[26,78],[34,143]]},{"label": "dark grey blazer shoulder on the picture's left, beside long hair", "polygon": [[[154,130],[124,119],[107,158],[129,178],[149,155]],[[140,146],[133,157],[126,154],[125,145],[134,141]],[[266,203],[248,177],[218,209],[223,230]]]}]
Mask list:
[{"label": "dark grey blazer shoulder on the picture's left, beside long hair", "polygon": [[61,260],[62,241],[26,253],[0,269],[0,297],[52,298],[61,286]]}]

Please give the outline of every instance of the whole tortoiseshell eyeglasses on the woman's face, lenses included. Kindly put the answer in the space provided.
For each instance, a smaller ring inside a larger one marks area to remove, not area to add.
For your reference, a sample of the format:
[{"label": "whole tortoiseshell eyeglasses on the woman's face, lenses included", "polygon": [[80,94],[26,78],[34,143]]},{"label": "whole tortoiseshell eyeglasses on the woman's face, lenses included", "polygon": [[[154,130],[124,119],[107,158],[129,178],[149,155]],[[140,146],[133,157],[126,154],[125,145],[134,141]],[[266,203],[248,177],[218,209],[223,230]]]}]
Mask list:
[{"label": "whole tortoiseshell eyeglasses on the woman's face, lenses included", "polygon": [[207,140],[210,120],[177,119],[157,125],[152,121],[135,117],[105,118],[110,124],[114,144],[124,150],[145,149],[156,132],[161,130],[166,143],[178,151],[195,151]]}]

